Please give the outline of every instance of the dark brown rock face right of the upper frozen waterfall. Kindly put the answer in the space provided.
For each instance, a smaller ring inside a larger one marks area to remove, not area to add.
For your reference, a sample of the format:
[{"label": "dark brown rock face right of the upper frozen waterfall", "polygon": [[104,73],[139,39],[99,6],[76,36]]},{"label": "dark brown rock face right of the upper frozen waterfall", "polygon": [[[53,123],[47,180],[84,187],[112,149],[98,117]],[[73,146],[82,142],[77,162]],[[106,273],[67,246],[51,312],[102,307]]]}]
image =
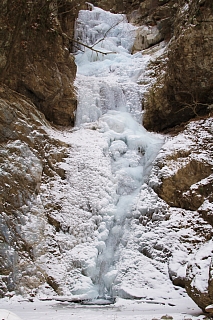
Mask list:
[{"label": "dark brown rock face right of the upper frozen waterfall", "polygon": [[[173,37],[144,101],[144,125],[162,131],[208,114],[212,88],[213,8],[210,1],[180,1]],[[164,71],[163,71],[164,70]]]}]

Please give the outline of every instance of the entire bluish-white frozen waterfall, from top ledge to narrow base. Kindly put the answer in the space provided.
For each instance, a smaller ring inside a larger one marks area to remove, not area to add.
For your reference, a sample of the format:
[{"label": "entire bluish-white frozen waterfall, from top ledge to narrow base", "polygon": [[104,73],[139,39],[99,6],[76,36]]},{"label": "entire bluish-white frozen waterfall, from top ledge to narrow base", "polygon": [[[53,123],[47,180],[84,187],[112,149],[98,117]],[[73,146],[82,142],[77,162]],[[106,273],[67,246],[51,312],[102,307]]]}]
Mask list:
[{"label": "entire bluish-white frozen waterfall, from top ledge to narrow base", "polygon": [[163,144],[161,137],[141,125],[141,101],[148,84],[140,83],[149,82],[145,68],[150,55],[131,54],[135,30],[124,15],[96,7],[80,11],[76,24],[76,39],[96,50],[81,46],[76,54],[76,127],[102,133],[116,190],[113,203],[99,212],[98,255],[86,270],[93,283],[90,298],[113,298],[116,263],[125,249],[123,228],[131,220],[138,193]]}]

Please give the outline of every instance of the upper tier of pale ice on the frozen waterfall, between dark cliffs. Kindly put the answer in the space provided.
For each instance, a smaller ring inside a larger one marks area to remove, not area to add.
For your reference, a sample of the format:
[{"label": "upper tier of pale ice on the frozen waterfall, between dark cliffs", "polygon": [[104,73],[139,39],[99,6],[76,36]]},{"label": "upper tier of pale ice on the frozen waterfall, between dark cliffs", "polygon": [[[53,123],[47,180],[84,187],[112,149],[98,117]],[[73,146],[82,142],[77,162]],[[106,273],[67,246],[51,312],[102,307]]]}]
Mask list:
[{"label": "upper tier of pale ice on the frozen waterfall, between dark cliffs", "polygon": [[[124,15],[98,8],[80,12],[76,38],[98,52],[81,46],[83,52],[76,56],[77,126],[98,120],[108,110],[129,112],[141,123],[141,101],[147,85],[139,83],[150,56],[131,55],[136,29]],[[105,54],[108,52],[113,53]]]}]

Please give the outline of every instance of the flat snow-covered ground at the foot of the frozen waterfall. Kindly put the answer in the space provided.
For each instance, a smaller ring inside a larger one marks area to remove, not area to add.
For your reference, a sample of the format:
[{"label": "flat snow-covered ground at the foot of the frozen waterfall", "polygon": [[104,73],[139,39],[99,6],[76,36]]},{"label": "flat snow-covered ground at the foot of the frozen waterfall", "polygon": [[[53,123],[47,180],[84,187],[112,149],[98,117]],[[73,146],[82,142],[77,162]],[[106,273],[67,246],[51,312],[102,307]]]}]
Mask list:
[{"label": "flat snow-covered ground at the foot of the frozen waterfall", "polygon": [[[5,314],[2,309],[7,309]],[[19,320],[13,318],[10,312],[16,314],[22,320],[198,320],[204,319],[201,310],[188,297],[180,297],[168,303],[161,304],[159,301],[144,303],[138,300],[118,301],[112,306],[83,306],[79,304],[59,301],[34,301],[27,302],[23,298],[13,298],[10,301],[1,300],[0,318]],[[5,316],[6,315],[6,316]],[[163,318],[164,317],[164,318]]]}]

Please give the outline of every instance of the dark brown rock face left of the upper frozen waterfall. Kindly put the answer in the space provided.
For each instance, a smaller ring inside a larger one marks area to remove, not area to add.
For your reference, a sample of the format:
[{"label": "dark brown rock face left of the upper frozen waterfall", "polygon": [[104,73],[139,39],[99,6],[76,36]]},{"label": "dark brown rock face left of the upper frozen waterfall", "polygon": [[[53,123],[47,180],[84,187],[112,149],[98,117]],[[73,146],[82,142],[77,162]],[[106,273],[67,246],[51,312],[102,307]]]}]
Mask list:
[{"label": "dark brown rock face left of the upper frozen waterfall", "polygon": [[[59,125],[72,125],[76,110],[76,66],[69,52],[74,31],[70,28],[64,36],[68,23],[67,14],[62,14],[70,12],[70,5],[62,1],[60,14],[56,1],[0,5],[1,81],[30,98],[49,121]],[[75,15],[74,10],[69,15],[73,24]]]}]

